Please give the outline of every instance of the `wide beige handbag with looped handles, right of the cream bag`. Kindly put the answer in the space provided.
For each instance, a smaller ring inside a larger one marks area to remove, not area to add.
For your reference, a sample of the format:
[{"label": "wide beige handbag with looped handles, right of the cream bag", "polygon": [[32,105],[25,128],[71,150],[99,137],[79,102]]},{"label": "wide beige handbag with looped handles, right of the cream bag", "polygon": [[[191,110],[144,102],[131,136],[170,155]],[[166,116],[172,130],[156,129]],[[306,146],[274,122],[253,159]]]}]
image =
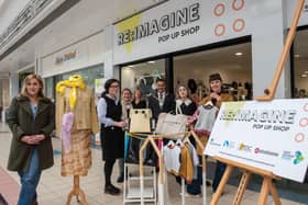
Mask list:
[{"label": "wide beige handbag with looped handles, right of the cream bag", "polygon": [[168,139],[179,139],[185,136],[188,116],[182,114],[180,107],[177,107],[176,111],[179,111],[176,115],[170,113],[160,114],[155,129],[157,134],[166,135],[164,137]]}]

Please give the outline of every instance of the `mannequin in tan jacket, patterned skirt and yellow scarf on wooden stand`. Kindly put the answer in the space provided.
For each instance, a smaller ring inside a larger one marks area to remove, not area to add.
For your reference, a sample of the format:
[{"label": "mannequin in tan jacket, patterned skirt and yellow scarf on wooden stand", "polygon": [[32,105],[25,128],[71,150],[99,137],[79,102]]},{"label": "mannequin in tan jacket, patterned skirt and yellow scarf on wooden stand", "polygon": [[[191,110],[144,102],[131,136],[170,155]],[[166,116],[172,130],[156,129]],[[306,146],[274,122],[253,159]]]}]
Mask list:
[{"label": "mannequin in tan jacket, patterned skirt and yellow scarf on wooden stand", "polygon": [[79,175],[87,175],[91,167],[91,134],[99,132],[95,96],[79,75],[74,75],[56,86],[56,134],[63,139],[63,176],[74,175],[74,191],[68,196],[80,194]]}]

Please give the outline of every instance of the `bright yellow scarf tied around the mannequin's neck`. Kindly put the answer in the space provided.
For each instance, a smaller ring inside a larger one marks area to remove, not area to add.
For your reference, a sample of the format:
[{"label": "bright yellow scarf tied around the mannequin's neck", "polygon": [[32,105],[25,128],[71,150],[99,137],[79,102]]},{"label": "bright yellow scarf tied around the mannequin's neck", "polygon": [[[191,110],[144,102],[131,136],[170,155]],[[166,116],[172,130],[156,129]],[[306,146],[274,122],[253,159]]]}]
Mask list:
[{"label": "bright yellow scarf tied around the mannequin's neck", "polygon": [[69,106],[73,111],[76,105],[77,100],[77,88],[85,90],[86,84],[80,75],[73,75],[67,80],[61,81],[56,86],[56,92],[61,95],[64,94],[65,88],[70,88],[70,94],[69,94]]}]

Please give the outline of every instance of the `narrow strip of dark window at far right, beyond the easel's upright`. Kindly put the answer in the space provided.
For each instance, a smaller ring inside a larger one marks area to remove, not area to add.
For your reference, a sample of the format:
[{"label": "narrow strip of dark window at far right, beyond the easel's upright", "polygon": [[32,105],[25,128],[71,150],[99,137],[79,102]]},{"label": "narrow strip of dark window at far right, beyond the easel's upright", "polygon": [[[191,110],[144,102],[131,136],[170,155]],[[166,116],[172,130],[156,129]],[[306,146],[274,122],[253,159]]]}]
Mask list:
[{"label": "narrow strip of dark window at far right, beyond the easel's upright", "polygon": [[308,30],[298,31],[294,41],[294,98],[308,98]]}]

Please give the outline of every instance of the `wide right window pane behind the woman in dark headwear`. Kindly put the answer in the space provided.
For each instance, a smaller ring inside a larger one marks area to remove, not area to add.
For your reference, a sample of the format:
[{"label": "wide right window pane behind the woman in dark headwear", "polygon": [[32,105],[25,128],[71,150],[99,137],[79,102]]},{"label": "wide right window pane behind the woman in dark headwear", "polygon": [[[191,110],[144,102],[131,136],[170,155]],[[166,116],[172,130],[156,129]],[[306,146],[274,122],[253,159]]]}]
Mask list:
[{"label": "wide right window pane behind the woman in dark headwear", "polygon": [[238,100],[252,99],[251,43],[230,45],[174,57],[174,88],[189,88],[195,101],[209,92],[209,76],[219,72],[223,90]]}]

